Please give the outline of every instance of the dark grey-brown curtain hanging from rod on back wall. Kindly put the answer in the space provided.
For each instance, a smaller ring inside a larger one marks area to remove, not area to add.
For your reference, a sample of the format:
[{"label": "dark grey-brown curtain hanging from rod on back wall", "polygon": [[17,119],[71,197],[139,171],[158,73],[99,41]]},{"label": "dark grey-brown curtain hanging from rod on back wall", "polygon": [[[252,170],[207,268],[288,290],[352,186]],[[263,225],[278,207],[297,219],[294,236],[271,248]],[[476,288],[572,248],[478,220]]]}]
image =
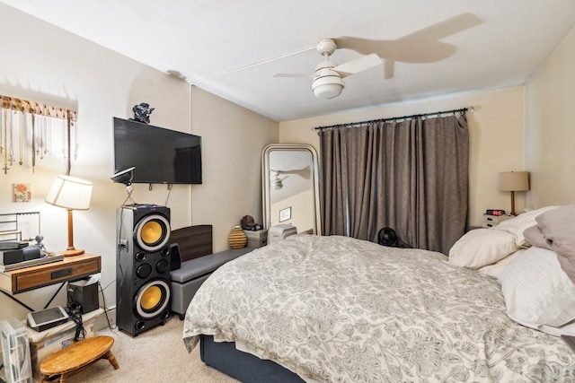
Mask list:
[{"label": "dark grey-brown curtain hanging from rod on back wall", "polygon": [[414,248],[447,254],[464,234],[465,116],[377,121],[320,131],[324,235],[376,241],[391,227]]}]

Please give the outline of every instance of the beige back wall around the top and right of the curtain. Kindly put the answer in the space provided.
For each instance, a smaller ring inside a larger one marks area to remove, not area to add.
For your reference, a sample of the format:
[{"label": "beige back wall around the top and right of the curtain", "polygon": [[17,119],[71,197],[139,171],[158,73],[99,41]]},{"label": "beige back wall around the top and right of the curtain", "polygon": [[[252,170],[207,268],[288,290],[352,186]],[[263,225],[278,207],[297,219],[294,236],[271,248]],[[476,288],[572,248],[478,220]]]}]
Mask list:
[{"label": "beige back wall around the top and right of the curtain", "polygon": [[[330,126],[376,118],[401,117],[439,110],[472,107],[467,114],[470,132],[469,224],[479,226],[486,209],[510,210],[509,193],[496,190],[499,171],[524,170],[524,88],[484,91],[397,104],[279,124],[282,144],[304,143],[319,152],[315,126]],[[523,211],[525,196],[516,194],[516,210]]]}]

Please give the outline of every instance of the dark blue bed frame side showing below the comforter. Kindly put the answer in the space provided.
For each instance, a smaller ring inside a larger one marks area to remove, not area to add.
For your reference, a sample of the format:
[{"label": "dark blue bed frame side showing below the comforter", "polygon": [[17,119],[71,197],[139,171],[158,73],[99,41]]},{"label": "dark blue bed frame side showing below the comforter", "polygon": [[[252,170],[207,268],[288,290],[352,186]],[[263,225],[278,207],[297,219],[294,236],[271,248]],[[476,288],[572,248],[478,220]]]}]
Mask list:
[{"label": "dark blue bed frame side showing below the comforter", "polygon": [[278,363],[238,351],[231,342],[214,342],[211,335],[199,335],[199,356],[208,366],[245,383],[304,382]]}]

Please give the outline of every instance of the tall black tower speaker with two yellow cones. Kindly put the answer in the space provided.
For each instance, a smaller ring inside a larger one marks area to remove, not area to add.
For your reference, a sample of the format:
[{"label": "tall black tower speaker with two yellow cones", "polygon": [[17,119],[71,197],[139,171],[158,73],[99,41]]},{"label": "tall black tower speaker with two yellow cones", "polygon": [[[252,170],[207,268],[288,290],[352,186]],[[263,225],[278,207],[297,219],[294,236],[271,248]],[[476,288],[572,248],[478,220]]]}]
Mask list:
[{"label": "tall black tower speaker with two yellow cones", "polygon": [[136,336],[170,317],[170,209],[122,206],[116,219],[116,323]]}]

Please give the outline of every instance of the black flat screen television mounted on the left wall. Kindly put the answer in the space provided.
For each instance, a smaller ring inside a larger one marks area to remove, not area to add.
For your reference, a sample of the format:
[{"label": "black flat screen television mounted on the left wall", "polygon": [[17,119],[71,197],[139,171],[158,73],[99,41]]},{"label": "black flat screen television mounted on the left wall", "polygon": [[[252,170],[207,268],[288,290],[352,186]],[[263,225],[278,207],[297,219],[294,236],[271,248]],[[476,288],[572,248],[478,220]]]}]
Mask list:
[{"label": "black flat screen television mounted on the left wall", "polygon": [[131,167],[132,183],[201,184],[201,137],[114,118],[114,172]]}]

